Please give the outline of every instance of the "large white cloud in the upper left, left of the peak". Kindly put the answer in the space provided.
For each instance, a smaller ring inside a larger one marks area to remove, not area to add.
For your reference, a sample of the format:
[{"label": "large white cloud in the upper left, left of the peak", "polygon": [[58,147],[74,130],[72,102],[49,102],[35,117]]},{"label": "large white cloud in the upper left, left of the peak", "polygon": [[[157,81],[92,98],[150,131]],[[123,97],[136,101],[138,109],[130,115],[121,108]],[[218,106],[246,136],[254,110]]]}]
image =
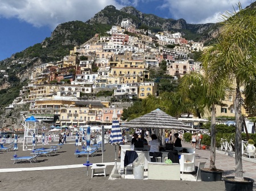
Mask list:
[{"label": "large white cloud in the upper left, left of the peak", "polygon": [[18,18],[35,27],[54,29],[72,20],[85,22],[108,5],[123,7],[115,0],[1,0],[0,17]]}]

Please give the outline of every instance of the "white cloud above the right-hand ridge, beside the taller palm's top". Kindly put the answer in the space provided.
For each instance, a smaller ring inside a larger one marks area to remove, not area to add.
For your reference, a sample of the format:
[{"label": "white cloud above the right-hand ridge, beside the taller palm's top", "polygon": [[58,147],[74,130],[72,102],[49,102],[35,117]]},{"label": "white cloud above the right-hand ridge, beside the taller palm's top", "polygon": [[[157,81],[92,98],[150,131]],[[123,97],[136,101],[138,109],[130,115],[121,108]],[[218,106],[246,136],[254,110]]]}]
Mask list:
[{"label": "white cloud above the right-hand ridge, beside the taller palm's top", "polygon": [[[241,0],[243,8],[252,0]],[[159,9],[168,9],[173,19],[185,19],[187,23],[220,22],[221,14],[237,8],[238,0],[164,0]]]}]

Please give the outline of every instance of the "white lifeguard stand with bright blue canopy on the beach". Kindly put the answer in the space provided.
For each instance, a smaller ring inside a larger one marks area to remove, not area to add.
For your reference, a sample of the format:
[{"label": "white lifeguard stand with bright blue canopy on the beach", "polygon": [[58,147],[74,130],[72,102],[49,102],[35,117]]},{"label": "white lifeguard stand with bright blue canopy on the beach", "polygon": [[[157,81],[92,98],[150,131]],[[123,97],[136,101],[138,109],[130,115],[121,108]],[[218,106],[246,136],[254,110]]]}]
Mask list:
[{"label": "white lifeguard stand with bright blue canopy on the beach", "polygon": [[[24,150],[32,150],[32,147],[28,148],[28,145],[27,145],[28,139],[29,139],[29,141],[31,141],[31,146],[32,146],[33,135],[35,134],[35,137],[38,137],[38,127],[36,125],[36,122],[38,122],[38,120],[34,116],[31,116],[25,120],[23,151]],[[36,141],[36,139],[35,139],[35,141]]]}]

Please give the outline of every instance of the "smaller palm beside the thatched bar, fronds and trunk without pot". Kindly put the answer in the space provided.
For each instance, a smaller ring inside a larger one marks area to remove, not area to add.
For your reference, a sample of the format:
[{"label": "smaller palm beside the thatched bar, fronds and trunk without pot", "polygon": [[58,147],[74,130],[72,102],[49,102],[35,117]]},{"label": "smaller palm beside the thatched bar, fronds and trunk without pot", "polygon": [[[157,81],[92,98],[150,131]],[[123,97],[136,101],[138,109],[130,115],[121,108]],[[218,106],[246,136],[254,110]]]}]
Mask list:
[{"label": "smaller palm beside the thatched bar, fronds and trunk without pot", "polygon": [[[203,59],[204,57],[202,57]],[[205,74],[208,73],[208,67],[205,65]],[[216,104],[220,104],[220,100],[225,96],[225,90],[228,88],[227,81],[221,81],[220,78],[214,78],[209,75],[202,75],[196,71],[192,71],[186,74],[181,79],[181,90],[184,94],[193,89],[200,91],[204,99],[202,101],[202,108],[208,108],[211,110],[210,120],[210,171],[216,171],[215,166],[216,159]]]}]

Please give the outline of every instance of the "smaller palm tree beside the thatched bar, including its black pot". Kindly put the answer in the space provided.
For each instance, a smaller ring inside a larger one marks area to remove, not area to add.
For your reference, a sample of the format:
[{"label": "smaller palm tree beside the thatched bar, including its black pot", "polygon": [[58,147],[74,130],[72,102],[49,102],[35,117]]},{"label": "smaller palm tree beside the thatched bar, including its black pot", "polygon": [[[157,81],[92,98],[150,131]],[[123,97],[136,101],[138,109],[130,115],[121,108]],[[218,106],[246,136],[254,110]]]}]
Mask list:
[{"label": "smaller palm tree beside the thatched bar, including its black pot", "polygon": [[[204,55],[204,54],[203,54]],[[204,60],[204,56],[201,58]],[[229,87],[229,83],[221,78],[214,78],[208,75],[208,63],[203,65],[205,74],[191,72],[181,79],[181,90],[188,92],[188,88],[193,88],[203,94],[203,105],[211,112],[210,120],[210,166],[201,169],[202,181],[220,181],[222,179],[222,170],[217,169],[216,160],[216,105],[220,104],[220,100],[225,96],[225,90]]]}]

